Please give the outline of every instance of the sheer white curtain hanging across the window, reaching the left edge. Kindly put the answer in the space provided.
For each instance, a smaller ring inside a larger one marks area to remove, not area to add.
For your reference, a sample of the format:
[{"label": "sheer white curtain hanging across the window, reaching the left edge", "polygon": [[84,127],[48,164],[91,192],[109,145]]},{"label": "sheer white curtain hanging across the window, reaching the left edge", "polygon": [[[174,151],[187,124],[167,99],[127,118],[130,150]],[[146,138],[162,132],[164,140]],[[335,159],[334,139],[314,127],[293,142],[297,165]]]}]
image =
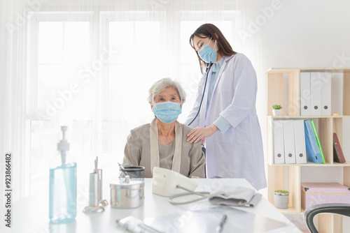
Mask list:
[{"label": "sheer white curtain hanging across the window, reaching the left edge", "polygon": [[[216,24],[235,51],[258,64],[258,36],[241,35],[247,5],[1,0],[0,167],[5,151],[13,153],[13,200],[48,183],[62,125],[68,126],[78,182],[87,183],[96,156],[105,177],[118,176],[130,130],[153,119],[148,89],[162,77],[186,89],[184,121],[201,77],[188,39],[201,24]],[[0,177],[2,185],[3,172]]]}]

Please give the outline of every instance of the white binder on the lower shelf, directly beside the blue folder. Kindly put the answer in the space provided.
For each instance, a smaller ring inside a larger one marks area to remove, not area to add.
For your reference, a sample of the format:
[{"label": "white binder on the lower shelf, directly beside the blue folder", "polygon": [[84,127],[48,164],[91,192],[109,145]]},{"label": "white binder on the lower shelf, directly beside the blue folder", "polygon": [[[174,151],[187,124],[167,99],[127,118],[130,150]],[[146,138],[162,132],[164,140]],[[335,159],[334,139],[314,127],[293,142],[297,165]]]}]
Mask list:
[{"label": "white binder on the lower shelf, directly beside the blue folder", "polygon": [[304,120],[294,121],[294,141],[296,163],[307,163]]}]

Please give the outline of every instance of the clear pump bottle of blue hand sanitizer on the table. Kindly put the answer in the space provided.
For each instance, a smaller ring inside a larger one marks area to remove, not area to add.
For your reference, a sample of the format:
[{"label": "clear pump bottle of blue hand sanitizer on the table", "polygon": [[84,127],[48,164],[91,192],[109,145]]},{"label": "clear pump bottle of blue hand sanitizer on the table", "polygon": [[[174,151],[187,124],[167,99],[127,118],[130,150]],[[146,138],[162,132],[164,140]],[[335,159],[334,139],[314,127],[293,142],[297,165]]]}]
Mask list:
[{"label": "clear pump bottle of blue hand sanitizer on the table", "polygon": [[69,143],[65,139],[67,126],[61,126],[59,153],[50,166],[49,218],[51,223],[66,223],[76,218],[76,163],[67,155]]}]

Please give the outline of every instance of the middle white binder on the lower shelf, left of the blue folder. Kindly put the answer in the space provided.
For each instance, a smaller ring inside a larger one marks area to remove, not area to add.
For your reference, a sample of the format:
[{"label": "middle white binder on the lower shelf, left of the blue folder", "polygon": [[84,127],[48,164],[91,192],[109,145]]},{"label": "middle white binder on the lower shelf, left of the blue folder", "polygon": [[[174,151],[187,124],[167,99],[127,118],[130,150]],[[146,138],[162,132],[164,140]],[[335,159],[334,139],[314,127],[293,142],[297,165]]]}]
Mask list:
[{"label": "middle white binder on the lower shelf, left of the blue folder", "polygon": [[293,120],[283,121],[284,161],[295,163],[294,123]]}]

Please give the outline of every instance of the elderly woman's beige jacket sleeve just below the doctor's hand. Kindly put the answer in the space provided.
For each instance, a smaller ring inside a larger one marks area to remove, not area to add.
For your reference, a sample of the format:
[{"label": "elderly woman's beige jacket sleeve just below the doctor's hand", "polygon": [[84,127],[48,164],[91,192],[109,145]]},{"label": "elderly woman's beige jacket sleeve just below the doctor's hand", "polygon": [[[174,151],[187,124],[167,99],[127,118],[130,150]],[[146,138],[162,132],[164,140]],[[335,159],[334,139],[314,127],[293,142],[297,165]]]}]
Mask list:
[{"label": "elderly woman's beige jacket sleeve just below the doctor's hand", "polygon": [[200,142],[193,144],[190,151],[190,178],[205,178],[205,156]]}]

